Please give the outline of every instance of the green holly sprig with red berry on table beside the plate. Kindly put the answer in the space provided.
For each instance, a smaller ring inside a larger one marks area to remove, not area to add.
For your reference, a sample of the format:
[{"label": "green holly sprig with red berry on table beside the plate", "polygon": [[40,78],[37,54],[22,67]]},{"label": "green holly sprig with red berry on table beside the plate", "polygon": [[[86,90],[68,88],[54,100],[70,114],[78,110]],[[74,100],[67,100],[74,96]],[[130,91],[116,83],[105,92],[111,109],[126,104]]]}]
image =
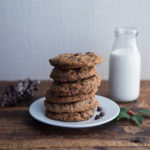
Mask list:
[{"label": "green holly sprig with red berry on table beside the plate", "polygon": [[117,123],[120,119],[128,119],[134,121],[139,126],[143,122],[144,115],[150,115],[150,110],[141,109],[140,111],[133,112],[128,108],[120,108],[120,113],[114,121]]}]

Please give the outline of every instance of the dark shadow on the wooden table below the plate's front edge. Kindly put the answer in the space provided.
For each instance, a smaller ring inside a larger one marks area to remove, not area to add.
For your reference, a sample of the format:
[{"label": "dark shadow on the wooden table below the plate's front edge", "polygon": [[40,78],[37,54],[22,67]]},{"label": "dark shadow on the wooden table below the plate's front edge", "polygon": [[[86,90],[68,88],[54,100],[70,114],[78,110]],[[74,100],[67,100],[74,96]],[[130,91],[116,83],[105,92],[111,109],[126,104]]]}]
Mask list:
[{"label": "dark shadow on the wooden table below the plate's front edge", "polygon": [[[63,137],[96,137],[101,134],[101,137],[104,136],[112,137],[109,135],[109,133],[120,133],[123,131],[123,129],[119,126],[116,126],[114,121],[111,121],[109,123],[106,123],[101,126],[91,127],[91,128],[64,128],[64,127],[56,127],[47,125],[41,122],[38,122],[34,120],[31,116],[28,116],[29,119],[27,119],[26,123],[30,128],[33,130],[33,134],[40,133],[41,136],[50,136],[50,137],[57,137],[57,136],[63,136]],[[107,137],[107,139],[108,139]]]}]

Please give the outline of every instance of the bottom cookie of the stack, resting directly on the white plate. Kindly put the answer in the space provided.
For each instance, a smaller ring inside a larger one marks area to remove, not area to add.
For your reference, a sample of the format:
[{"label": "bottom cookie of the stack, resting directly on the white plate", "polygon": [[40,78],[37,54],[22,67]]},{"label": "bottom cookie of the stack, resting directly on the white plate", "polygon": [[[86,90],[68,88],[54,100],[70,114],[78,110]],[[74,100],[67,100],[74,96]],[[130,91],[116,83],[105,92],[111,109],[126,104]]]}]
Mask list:
[{"label": "bottom cookie of the stack, resting directly on the white plate", "polygon": [[46,116],[61,121],[84,121],[89,120],[94,115],[94,109],[90,109],[85,112],[77,112],[77,113],[54,113],[46,110]]}]

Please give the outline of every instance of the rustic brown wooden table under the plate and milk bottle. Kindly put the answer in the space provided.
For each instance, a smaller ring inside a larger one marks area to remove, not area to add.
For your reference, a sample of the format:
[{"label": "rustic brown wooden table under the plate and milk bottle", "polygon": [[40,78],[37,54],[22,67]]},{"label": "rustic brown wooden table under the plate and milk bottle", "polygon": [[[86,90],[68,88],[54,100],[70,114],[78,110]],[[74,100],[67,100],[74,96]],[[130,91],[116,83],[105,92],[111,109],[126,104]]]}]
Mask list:
[{"label": "rustic brown wooden table under the plate and milk bottle", "polygon": [[[0,82],[0,92],[12,82]],[[35,99],[44,96],[50,81],[42,81]],[[108,82],[103,81],[98,94],[108,97]],[[34,120],[28,112],[32,101],[16,107],[0,108],[0,150],[149,150],[150,117],[141,126],[129,122],[84,129],[48,126]],[[121,107],[150,109],[150,81],[142,81],[137,101]]]}]

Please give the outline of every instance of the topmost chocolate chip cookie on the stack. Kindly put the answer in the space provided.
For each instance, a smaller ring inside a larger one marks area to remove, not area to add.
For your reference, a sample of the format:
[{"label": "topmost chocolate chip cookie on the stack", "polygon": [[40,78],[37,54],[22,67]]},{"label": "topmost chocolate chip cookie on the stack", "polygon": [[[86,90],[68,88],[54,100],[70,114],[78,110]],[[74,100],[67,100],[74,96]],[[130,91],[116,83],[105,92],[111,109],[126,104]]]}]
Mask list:
[{"label": "topmost chocolate chip cookie on the stack", "polygon": [[66,53],[60,54],[54,58],[49,59],[52,66],[61,69],[73,69],[94,66],[104,61],[102,56],[97,55],[94,52],[83,53]]}]

